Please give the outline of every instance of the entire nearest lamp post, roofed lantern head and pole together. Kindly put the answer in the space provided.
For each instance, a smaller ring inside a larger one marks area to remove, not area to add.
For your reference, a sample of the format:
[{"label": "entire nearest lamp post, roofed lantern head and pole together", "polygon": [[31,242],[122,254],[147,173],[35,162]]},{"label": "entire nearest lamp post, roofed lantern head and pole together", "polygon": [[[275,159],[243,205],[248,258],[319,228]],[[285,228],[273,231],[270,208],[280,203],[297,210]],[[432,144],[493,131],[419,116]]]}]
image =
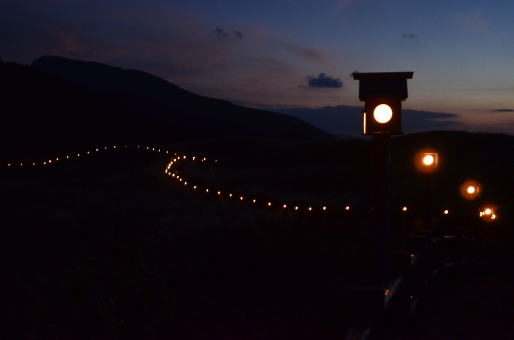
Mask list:
[{"label": "entire nearest lamp post, roofed lantern head and pole together", "polygon": [[413,73],[353,73],[359,81],[359,99],[364,102],[363,135],[373,136],[373,272],[379,285],[389,273],[391,135],[403,135],[401,102],[408,97],[407,79],[412,79]]}]

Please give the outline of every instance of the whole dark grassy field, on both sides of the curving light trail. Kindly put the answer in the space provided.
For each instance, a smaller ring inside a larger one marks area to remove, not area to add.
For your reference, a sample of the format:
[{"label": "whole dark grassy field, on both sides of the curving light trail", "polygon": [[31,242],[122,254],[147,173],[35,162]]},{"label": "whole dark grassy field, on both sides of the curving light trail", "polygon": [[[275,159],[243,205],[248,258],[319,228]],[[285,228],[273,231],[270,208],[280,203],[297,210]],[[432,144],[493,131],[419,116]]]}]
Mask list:
[{"label": "whole dark grassy field, on both sides of the curving light trail", "polygon": [[[442,223],[466,221],[458,186],[478,176],[483,199],[500,206],[490,228],[509,240],[512,138],[456,135],[393,140],[392,223],[421,216],[411,157],[436,140],[434,208],[453,216]],[[277,204],[178,185],[164,173],[169,157],[146,150],[4,168],[0,338],[341,338],[345,287],[370,283],[371,144],[240,138],[167,149],[208,159],[174,168],[187,181]]]}]

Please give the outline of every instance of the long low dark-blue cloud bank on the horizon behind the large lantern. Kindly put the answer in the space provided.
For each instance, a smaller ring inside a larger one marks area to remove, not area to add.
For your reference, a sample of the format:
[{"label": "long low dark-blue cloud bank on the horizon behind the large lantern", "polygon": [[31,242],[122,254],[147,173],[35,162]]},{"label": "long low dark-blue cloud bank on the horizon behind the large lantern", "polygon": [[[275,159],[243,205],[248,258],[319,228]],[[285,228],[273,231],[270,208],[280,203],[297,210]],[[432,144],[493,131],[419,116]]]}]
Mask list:
[{"label": "long low dark-blue cloud bank on the horizon behind the large lantern", "polygon": [[[362,134],[362,106],[324,106],[320,108],[287,107],[272,111],[298,117],[332,134],[358,137]],[[464,124],[450,119],[455,114],[420,110],[402,110],[402,128],[406,133],[428,130],[463,129]]]}]

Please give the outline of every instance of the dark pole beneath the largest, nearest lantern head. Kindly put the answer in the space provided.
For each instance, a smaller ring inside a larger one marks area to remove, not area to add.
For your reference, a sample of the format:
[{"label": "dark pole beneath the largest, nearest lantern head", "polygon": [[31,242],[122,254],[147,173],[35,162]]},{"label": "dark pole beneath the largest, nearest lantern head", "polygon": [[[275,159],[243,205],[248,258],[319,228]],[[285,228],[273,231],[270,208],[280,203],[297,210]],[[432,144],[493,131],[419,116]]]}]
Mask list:
[{"label": "dark pole beneath the largest, nearest lantern head", "polygon": [[382,285],[389,274],[391,241],[391,135],[373,135],[373,281]]}]

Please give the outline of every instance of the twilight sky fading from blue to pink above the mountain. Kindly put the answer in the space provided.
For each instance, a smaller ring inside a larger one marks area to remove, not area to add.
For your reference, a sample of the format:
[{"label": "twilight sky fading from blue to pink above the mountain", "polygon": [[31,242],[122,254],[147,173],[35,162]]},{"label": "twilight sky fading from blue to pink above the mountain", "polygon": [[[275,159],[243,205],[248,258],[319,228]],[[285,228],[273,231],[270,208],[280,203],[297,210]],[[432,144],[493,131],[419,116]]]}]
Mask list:
[{"label": "twilight sky fading from blue to pink above the mountain", "polygon": [[426,129],[514,133],[512,17],[511,0],[3,0],[0,58],[98,61],[313,115],[363,105],[354,71],[414,71],[403,108],[429,111]]}]

